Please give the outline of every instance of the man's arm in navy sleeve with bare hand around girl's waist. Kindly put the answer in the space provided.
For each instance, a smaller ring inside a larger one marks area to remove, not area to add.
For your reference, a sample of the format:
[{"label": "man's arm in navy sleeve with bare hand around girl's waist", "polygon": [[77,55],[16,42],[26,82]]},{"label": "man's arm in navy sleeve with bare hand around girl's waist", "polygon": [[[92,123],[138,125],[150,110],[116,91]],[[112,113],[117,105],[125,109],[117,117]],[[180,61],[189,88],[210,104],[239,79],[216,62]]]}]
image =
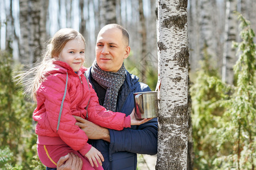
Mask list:
[{"label": "man's arm in navy sleeve with bare hand around girl's waist", "polygon": [[[158,141],[157,118],[139,125],[137,129],[121,131],[102,128],[81,117],[74,116],[79,126],[89,139],[103,139],[110,142],[110,151],[129,151],[137,154],[155,155]],[[110,141],[111,139],[111,141]]]}]

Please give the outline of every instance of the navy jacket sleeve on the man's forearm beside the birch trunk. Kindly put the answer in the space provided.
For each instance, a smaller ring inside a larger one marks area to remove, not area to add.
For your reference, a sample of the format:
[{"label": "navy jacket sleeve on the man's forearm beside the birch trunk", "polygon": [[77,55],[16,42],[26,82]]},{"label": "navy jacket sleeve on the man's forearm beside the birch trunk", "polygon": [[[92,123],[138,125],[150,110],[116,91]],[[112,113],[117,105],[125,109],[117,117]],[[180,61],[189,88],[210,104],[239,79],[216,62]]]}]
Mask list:
[{"label": "navy jacket sleeve on the man's forearm beside the birch trunk", "polygon": [[137,126],[137,129],[116,131],[109,129],[110,152],[128,151],[136,154],[155,155],[158,145],[157,118]]}]

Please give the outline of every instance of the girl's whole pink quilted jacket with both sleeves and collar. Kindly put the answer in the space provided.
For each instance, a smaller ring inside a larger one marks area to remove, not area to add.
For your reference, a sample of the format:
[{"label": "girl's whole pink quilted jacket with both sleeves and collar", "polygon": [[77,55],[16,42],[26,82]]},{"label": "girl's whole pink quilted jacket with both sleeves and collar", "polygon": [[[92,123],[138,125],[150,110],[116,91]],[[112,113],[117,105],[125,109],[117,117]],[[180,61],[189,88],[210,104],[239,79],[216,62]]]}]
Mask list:
[{"label": "girl's whole pink quilted jacket with both sleeves and collar", "polygon": [[[65,62],[55,61],[55,69],[49,71],[47,78],[36,91],[37,107],[33,118],[38,121],[35,132],[38,134],[39,145],[65,145],[78,150],[85,155],[92,146],[87,141],[88,137],[78,126],[72,116],[86,117],[88,106],[88,120],[105,128],[122,130],[130,128],[130,116],[123,113],[106,111],[98,103],[98,97],[92,85],[84,76],[85,67],[76,74]],[[68,87],[65,96],[60,126],[57,131],[60,105],[63,99],[65,83],[68,73]]]}]

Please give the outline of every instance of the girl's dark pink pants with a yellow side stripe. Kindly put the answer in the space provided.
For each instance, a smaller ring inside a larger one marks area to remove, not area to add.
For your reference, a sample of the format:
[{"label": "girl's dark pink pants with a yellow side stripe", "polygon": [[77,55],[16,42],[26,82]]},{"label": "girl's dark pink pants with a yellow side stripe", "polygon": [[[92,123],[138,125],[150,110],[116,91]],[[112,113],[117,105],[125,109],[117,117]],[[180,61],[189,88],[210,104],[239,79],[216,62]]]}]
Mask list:
[{"label": "girl's dark pink pants with a yellow side stripe", "polygon": [[103,169],[100,165],[97,168],[95,164],[94,167],[92,167],[85,156],[82,156],[79,152],[73,150],[68,145],[38,145],[39,159],[44,165],[46,165],[46,167],[56,168],[60,157],[71,152],[82,159],[82,169]]}]

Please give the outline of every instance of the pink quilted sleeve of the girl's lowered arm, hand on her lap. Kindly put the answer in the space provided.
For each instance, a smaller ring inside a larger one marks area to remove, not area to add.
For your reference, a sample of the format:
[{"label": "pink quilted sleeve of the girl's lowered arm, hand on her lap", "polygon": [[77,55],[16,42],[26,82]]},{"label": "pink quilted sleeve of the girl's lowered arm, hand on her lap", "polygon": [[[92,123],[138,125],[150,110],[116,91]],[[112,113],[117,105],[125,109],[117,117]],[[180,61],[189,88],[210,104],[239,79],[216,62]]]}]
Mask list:
[{"label": "pink quilted sleeve of the girl's lowered arm, hand on her lap", "polygon": [[65,81],[66,77],[63,74],[49,75],[47,80],[40,86],[37,95],[44,99],[46,114],[51,129],[55,131],[68,146],[73,148],[73,150],[79,150],[82,152],[81,154],[85,155],[92,146],[87,143],[88,137],[84,131],[82,131],[79,126],[75,125],[76,119],[71,114],[68,91],[63,104],[59,130],[57,131],[60,105],[65,90]]}]

